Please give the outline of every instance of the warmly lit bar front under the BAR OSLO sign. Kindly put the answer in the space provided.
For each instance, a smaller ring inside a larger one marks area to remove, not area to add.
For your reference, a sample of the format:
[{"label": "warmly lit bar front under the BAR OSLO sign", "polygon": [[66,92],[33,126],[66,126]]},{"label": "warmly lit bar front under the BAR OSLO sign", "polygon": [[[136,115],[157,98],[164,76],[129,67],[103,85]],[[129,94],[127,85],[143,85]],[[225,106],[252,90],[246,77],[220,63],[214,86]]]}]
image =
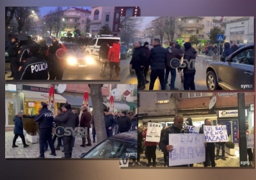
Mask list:
[{"label": "warmly lit bar front under the BAR OSLO sign", "polygon": [[[38,113],[41,102],[47,103],[49,97],[49,88],[22,85],[20,96],[23,100],[24,114],[34,115]],[[66,103],[66,99],[60,94],[54,94],[55,112],[57,112],[60,103]]]}]

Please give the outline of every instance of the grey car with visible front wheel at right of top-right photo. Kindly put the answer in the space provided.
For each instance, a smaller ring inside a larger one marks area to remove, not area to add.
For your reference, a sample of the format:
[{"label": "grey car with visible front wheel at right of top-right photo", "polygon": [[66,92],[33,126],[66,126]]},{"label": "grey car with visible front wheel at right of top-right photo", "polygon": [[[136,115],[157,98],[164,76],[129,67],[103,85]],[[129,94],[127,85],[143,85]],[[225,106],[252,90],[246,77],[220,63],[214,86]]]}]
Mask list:
[{"label": "grey car with visible front wheel at right of top-right photo", "polygon": [[254,89],[254,44],[244,45],[220,61],[212,61],[206,70],[209,90]]}]

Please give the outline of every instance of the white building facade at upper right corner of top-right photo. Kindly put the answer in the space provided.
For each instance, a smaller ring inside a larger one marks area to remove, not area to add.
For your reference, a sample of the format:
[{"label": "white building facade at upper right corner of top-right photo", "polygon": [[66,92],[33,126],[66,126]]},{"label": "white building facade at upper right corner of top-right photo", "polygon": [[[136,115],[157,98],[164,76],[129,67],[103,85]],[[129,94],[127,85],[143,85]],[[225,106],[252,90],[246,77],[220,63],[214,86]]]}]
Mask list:
[{"label": "white building facade at upper right corner of top-right photo", "polygon": [[254,17],[223,17],[226,40],[230,43],[254,43]]}]

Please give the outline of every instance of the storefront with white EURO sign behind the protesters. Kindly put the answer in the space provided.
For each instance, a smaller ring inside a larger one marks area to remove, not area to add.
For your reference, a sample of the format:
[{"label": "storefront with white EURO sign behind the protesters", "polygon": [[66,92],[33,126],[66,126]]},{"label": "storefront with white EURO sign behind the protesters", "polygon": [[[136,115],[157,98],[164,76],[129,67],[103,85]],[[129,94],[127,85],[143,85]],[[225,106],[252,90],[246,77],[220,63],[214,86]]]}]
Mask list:
[{"label": "storefront with white EURO sign behind the protesters", "polygon": [[[227,126],[228,138],[231,142],[239,143],[238,135],[238,110],[218,110],[217,123]],[[248,109],[245,110],[245,119],[248,121]],[[245,123],[245,122],[244,122]]]}]

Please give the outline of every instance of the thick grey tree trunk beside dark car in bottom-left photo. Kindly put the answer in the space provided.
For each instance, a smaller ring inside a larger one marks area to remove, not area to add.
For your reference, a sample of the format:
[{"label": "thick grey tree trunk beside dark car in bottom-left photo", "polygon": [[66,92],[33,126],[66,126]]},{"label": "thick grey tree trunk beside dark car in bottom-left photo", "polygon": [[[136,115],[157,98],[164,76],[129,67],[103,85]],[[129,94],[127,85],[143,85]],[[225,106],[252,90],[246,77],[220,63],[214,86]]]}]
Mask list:
[{"label": "thick grey tree trunk beside dark car in bottom-left photo", "polygon": [[89,84],[91,90],[95,131],[97,132],[98,142],[102,142],[108,138],[104,121],[102,86],[103,84]]}]

